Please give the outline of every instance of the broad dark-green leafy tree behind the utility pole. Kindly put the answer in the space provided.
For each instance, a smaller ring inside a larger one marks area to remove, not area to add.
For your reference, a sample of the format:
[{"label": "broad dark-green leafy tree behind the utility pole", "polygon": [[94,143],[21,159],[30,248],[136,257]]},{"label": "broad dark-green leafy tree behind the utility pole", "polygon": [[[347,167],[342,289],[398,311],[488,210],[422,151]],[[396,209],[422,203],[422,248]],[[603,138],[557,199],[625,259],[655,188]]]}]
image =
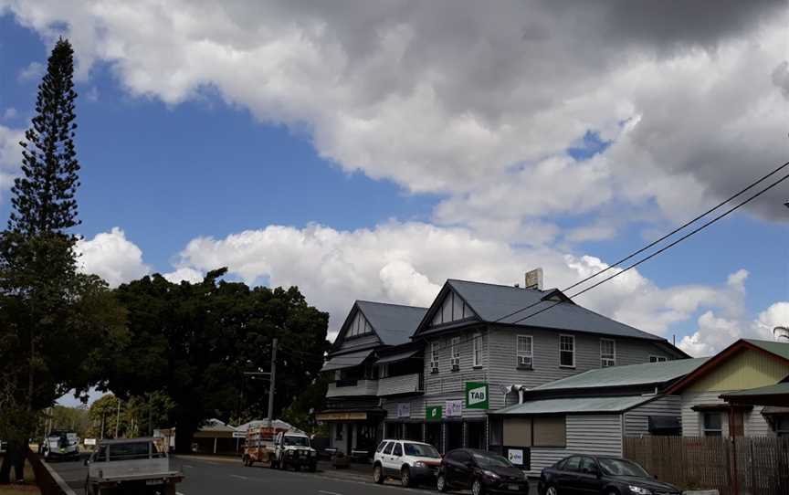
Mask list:
[{"label": "broad dark-green leafy tree behind the utility pole", "polygon": [[279,339],[275,413],[318,376],[328,343],[328,314],[310,307],[296,288],[250,289],[220,280],[174,284],[160,275],[116,290],[128,309],[130,345],[115,361],[110,389],[144,396],[161,390],[173,399],[176,450],[188,451],[206,419],[265,416],[268,382],[245,372],[268,371]]}]

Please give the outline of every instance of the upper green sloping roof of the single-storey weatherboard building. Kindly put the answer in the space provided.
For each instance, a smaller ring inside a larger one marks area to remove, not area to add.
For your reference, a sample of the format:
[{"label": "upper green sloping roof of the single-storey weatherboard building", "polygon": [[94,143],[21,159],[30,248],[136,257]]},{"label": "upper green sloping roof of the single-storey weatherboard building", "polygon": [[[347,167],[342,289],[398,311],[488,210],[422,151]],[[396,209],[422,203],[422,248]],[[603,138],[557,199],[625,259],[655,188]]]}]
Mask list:
[{"label": "upper green sloping roof of the single-storey weatherboard building", "polygon": [[532,388],[538,390],[563,390],[578,388],[615,387],[645,384],[665,384],[689,374],[701,364],[706,363],[708,357],[695,359],[678,359],[665,363],[629,364],[626,366],[611,366],[589,370],[580,374],[573,374],[567,378],[542,384]]}]

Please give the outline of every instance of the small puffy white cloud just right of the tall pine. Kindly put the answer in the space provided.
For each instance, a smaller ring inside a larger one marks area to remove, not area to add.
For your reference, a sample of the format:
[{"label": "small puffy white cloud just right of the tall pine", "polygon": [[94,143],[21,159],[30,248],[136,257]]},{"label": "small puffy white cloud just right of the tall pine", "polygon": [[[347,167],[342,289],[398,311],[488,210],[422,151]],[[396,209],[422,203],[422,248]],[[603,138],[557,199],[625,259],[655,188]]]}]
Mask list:
[{"label": "small puffy white cloud just right of the tall pine", "polygon": [[96,234],[92,239],[80,239],[75,247],[79,254],[79,269],[99,275],[110,287],[139,279],[151,268],[142,261],[142,250],[119,227]]}]

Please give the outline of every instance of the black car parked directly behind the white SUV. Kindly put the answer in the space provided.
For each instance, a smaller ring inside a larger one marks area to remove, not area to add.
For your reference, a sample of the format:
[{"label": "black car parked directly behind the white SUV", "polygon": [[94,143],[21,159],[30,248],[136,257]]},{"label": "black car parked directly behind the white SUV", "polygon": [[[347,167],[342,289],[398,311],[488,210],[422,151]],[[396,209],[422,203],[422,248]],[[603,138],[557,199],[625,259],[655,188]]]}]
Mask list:
[{"label": "black car parked directly behind the white SUV", "polygon": [[471,489],[481,493],[529,493],[529,480],[521,469],[492,452],[474,448],[458,448],[447,452],[438,468],[437,488],[440,491]]}]

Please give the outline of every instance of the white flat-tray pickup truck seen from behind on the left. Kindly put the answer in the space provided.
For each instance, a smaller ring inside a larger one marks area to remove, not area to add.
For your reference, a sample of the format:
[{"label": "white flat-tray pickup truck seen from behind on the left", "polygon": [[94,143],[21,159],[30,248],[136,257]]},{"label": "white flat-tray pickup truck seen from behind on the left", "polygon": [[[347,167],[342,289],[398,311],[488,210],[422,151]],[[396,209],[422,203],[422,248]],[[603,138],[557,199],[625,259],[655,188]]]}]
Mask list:
[{"label": "white flat-tray pickup truck seen from behind on the left", "polygon": [[181,472],[170,469],[167,453],[156,448],[153,438],[103,440],[85,464],[88,495],[175,495],[176,483],[184,479]]}]

